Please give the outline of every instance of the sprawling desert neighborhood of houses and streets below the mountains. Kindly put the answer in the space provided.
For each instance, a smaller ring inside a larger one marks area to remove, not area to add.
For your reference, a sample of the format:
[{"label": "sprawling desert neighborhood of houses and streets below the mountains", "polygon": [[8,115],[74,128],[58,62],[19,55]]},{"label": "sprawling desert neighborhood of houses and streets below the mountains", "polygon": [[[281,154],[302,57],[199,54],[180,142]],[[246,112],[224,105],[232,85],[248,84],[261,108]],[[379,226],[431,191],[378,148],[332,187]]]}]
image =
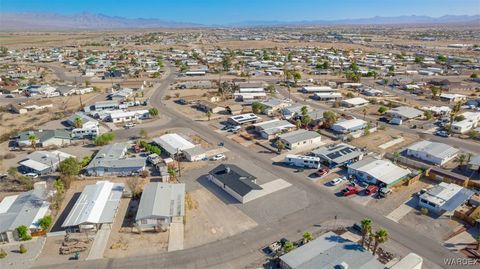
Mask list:
[{"label": "sprawling desert neighborhood of houses and streets below the mountains", "polygon": [[478,260],[471,27],[9,36],[0,268]]}]

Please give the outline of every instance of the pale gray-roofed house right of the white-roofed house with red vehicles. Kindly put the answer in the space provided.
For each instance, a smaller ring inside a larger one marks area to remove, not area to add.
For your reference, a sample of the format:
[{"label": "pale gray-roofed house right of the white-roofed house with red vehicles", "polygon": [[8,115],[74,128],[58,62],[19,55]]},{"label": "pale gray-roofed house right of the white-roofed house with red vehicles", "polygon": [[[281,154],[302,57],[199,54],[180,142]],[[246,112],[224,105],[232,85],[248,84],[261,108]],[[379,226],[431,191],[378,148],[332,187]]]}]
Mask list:
[{"label": "pale gray-roofed house right of the white-roofed house with red vehicles", "polygon": [[459,152],[458,149],[444,143],[422,140],[408,146],[406,155],[427,163],[444,165],[454,159]]}]

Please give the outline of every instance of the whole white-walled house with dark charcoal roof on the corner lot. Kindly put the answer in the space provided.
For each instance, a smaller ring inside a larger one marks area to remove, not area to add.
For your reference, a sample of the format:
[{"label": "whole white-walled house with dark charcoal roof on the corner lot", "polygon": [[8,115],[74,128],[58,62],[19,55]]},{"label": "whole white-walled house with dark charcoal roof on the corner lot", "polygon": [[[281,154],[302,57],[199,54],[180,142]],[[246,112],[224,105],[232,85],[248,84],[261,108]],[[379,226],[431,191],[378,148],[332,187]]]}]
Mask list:
[{"label": "whole white-walled house with dark charcoal roof on the corner lot", "polygon": [[255,199],[255,193],[262,190],[255,176],[234,164],[215,167],[208,173],[208,179],[242,204]]}]

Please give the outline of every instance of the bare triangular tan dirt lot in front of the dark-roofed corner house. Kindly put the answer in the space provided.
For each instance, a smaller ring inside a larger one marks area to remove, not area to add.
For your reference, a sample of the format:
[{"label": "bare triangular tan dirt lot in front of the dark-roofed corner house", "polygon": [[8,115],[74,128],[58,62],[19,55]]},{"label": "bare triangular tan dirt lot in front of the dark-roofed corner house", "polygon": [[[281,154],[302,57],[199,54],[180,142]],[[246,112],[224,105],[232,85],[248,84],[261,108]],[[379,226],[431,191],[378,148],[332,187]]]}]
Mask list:
[{"label": "bare triangular tan dirt lot in front of the dark-roofed corner house", "polygon": [[238,208],[224,203],[209,190],[201,188],[193,191],[191,195],[198,207],[187,211],[185,248],[226,238],[257,225]]}]

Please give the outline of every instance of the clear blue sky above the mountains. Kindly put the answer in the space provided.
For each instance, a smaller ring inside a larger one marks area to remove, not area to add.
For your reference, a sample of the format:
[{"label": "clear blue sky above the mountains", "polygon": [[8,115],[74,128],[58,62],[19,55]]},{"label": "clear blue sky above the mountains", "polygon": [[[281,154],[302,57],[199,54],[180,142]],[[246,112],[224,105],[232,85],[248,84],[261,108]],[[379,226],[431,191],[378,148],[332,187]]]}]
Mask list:
[{"label": "clear blue sky above the mountains", "polygon": [[2,12],[103,13],[223,24],[374,16],[480,14],[480,0],[0,0]]}]

